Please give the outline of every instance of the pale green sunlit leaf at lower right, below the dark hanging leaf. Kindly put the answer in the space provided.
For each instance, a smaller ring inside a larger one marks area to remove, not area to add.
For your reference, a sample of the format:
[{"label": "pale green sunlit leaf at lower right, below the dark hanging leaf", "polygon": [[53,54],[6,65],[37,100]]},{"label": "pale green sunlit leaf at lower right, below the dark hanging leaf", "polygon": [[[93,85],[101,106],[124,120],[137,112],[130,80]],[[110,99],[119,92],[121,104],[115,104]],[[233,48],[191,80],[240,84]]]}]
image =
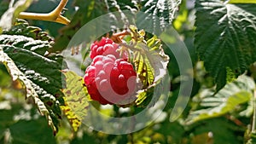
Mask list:
[{"label": "pale green sunlit leaf at lower right, below the dark hanging leaf", "polygon": [[254,88],[252,78],[240,76],[236,81],[226,84],[224,89],[219,90],[215,95],[214,90],[204,89],[193,99],[195,103],[199,103],[201,108],[191,111],[186,122],[191,124],[236,111],[238,105],[251,101]]}]

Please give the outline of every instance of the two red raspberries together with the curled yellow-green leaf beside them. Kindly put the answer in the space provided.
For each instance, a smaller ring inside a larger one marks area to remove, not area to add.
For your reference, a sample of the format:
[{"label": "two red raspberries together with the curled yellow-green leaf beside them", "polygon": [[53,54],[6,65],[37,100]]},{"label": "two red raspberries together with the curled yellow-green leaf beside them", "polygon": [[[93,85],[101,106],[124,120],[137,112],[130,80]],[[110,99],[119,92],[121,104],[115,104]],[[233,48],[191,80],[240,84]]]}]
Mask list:
[{"label": "two red raspberries together with the curled yellow-green leaf beside them", "polygon": [[[122,42],[119,38],[122,35],[131,37],[131,40]],[[155,75],[166,74],[154,70],[159,68],[156,65],[166,69],[169,60],[167,55],[160,55],[156,51],[162,50],[159,39],[152,37],[145,41],[144,36],[143,30],[138,31],[136,26],[130,26],[129,32],[113,34],[112,38],[120,42],[119,44],[113,43],[108,37],[102,37],[99,42],[90,45],[90,58],[93,60],[85,71],[84,84],[92,100],[101,104],[129,104],[137,99],[138,90],[144,90],[140,92],[142,95],[159,80],[155,79]],[[150,49],[154,51],[150,52]],[[148,59],[149,56],[152,59]],[[142,85],[143,89],[139,89],[139,85]],[[146,99],[144,96],[139,96],[140,101],[135,102],[139,105]]]}]

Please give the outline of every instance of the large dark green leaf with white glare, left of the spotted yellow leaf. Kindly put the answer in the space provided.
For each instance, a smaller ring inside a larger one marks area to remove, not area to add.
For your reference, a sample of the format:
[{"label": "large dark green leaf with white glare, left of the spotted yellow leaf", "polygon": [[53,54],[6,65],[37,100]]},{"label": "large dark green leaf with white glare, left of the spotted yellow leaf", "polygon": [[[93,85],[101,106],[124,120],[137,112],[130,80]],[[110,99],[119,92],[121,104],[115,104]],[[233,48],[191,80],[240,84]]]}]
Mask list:
[{"label": "large dark green leaf with white glare, left of the spotted yellow leaf", "polygon": [[[61,109],[58,105],[59,102],[63,104],[61,64],[26,49],[3,45],[3,50],[12,60],[15,60],[15,65],[25,74],[26,78],[32,81],[33,89],[48,107],[55,125],[58,125],[57,118],[61,117]],[[55,97],[58,97],[58,100]]]}]

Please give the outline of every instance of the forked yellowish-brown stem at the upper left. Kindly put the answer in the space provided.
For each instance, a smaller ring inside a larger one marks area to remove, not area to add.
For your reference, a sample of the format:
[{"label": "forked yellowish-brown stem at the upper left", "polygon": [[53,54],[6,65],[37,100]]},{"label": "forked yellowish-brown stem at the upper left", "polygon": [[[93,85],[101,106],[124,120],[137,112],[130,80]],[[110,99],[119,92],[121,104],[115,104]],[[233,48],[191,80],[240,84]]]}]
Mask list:
[{"label": "forked yellowish-brown stem at the upper left", "polygon": [[66,17],[61,15],[61,11],[66,6],[67,1],[68,0],[61,0],[61,3],[59,3],[59,5],[48,14],[21,12],[18,18],[53,21],[53,22],[64,24],[64,25],[68,25],[70,23],[70,20],[68,20]]}]

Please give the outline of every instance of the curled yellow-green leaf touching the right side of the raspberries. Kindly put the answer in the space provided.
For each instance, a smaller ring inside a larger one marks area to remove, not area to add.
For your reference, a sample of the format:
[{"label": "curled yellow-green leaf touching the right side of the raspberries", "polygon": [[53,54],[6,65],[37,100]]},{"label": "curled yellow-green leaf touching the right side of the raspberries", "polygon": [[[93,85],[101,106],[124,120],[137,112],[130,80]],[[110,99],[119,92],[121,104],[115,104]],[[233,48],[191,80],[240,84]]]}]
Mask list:
[{"label": "curled yellow-green leaf touching the right side of the raspberries", "polygon": [[[137,35],[136,32],[137,30],[133,32],[133,35]],[[137,41],[133,42],[136,43],[135,49],[131,48],[134,52],[133,62],[135,63],[138,78],[140,78],[144,88],[146,88],[165,76],[169,56],[165,55],[161,48],[160,39],[156,36],[148,39],[147,43],[138,39],[135,41]]]}]

